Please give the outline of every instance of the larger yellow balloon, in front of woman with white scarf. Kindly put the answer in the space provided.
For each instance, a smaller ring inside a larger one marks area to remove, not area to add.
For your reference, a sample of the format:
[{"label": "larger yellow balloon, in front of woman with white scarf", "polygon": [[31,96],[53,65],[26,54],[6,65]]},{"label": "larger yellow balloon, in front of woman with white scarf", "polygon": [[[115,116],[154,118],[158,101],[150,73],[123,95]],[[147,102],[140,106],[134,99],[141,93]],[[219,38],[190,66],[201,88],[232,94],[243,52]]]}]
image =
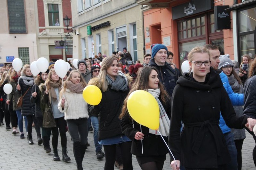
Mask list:
[{"label": "larger yellow balloon, in front of woman with white scarf", "polygon": [[150,129],[159,128],[159,106],[155,97],[144,90],[136,90],[127,100],[127,109],[132,119]]}]

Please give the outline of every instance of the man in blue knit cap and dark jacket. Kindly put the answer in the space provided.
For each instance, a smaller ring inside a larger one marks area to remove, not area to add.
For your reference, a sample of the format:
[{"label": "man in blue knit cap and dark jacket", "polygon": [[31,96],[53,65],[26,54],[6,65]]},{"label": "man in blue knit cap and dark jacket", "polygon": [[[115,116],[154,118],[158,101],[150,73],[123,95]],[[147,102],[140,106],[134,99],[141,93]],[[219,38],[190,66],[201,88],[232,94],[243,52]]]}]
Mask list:
[{"label": "man in blue knit cap and dark jacket", "polygon": [[165,90],[170,97],[178,80],[178,74],[169,63],[166,62],[168,49],[163,44],[153,44],[151,46],[151,59],[148,66],[156,67],[158,79],[165,86]]}]

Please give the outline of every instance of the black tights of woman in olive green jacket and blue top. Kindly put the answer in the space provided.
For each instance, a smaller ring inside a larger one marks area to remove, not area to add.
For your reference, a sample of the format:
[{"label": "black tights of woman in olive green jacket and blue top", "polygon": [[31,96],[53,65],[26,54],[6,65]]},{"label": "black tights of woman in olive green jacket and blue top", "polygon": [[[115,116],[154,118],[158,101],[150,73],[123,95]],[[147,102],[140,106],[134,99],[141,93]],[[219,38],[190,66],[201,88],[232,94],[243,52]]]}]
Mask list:
[{"label": "black tights of woman in olive green jacket and blue top", "polygon": [[56,127],[52,128],[53,137],[52,137],[52,145],[53,149],[58,148],[58,137],[60,134],[60,143],[61,147],[67,147],[67,136],[66,136],[66,121],[64,116],[61,118],[54,119],[56,122]]}]

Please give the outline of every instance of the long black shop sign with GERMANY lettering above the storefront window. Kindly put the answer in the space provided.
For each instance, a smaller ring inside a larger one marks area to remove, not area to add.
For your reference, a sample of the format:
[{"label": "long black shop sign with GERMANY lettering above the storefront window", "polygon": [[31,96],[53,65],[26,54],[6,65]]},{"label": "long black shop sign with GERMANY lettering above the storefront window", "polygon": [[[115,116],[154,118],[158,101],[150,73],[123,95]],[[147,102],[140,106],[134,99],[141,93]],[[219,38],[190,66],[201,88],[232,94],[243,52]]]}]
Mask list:
[{"label": "long black shop sign with GERMANY lettering above the storefront window", "polygon": [[172,7],[172,19],[179,19],[213,9],[214,0],[191,0]]}]

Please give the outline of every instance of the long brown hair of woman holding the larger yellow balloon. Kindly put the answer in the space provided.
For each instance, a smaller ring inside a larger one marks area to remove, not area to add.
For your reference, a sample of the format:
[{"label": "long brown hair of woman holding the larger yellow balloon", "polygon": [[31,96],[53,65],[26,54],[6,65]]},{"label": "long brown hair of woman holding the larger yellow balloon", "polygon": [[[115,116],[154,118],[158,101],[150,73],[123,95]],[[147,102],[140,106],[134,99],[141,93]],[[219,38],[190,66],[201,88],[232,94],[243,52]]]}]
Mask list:
[{"label": "long brown hair of woman holding the larger yellow balloon", "polygon": [[[120,119],[122,119],[128,113],[127,101],[128,101],[129,95],[132,92],[136,91],[136,90],[145,90],[145,91],[147,91],[149,76],[150,76],[150,74],[153,70],[155,70],[158,73],[157,69],[155,67],[152,67],[152,66],[143,67],[141,69],[140,73],[138,74],[137,79],[135,80],[134,84],[131,87],[131,90],[130,90],[129,94],[127,95],[127,97],[124,100],[123,109],[122,109],[122,112],[119,116]],[[160,81],[158,83],[158,87],[160,89],[159,97],[161,98],[163,103],[166,103],[167,99],[169,98],[169,95],[168,95],[167,91],[165,90],[163,84]]]}]

